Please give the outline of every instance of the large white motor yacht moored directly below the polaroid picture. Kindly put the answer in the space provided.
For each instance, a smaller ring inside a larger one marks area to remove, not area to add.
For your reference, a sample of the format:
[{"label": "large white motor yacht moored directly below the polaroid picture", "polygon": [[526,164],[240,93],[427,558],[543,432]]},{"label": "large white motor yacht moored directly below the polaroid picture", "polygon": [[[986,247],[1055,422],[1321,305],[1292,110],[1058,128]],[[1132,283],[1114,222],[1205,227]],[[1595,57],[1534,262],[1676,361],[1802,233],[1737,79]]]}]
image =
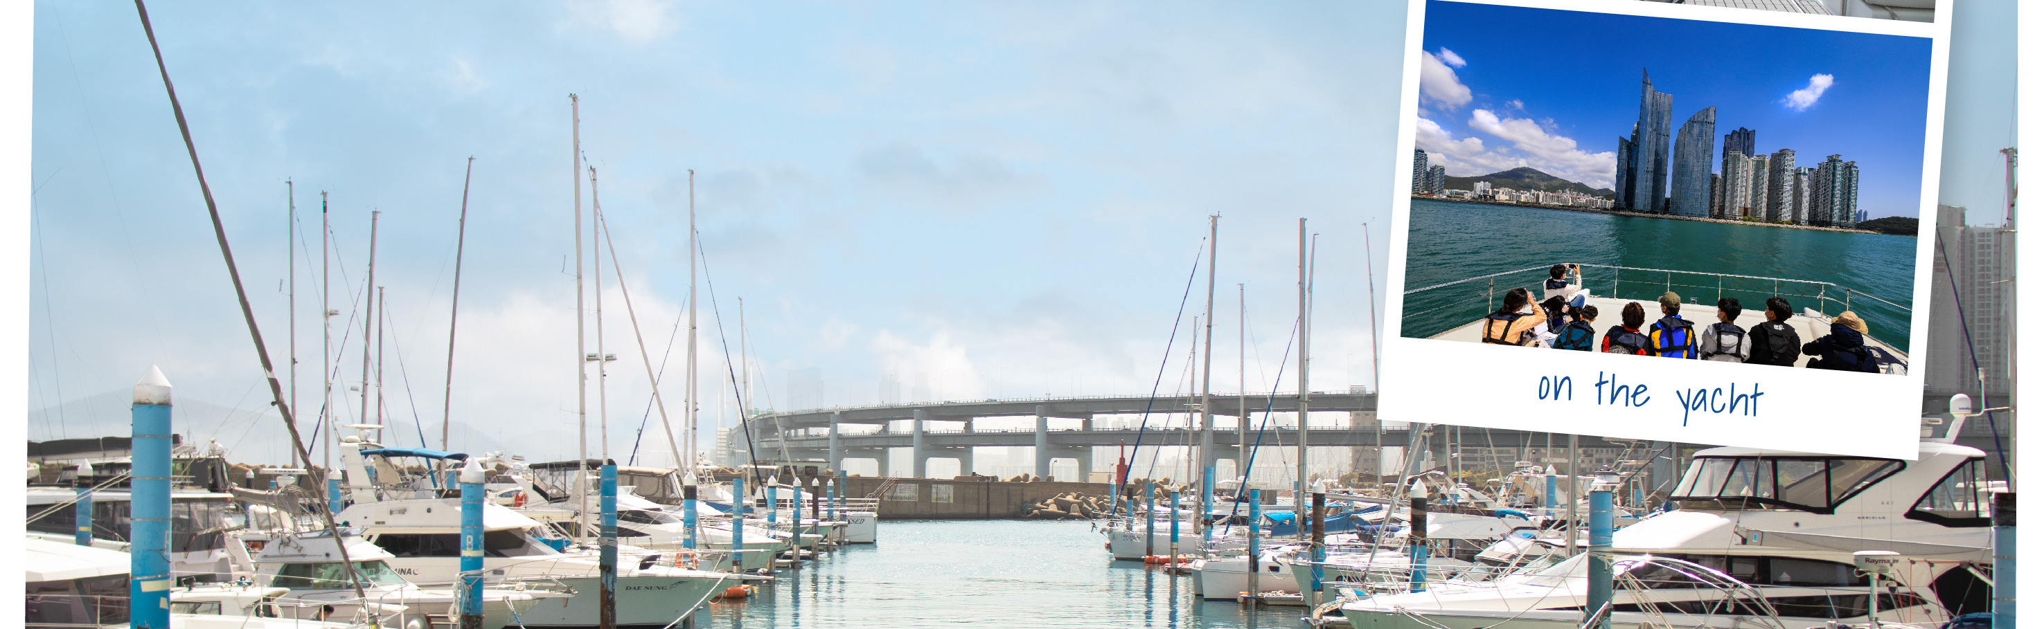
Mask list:
[{"label": "large white motor yacht moored directly below the polaroid picture", "polygon": [[[1678,511],[1613,533],[1611,623],[1821,627],[1866,623],[1868,602],[1878,602],[1883,623],[1936,625],[1985,611],[1989,584],[1979,568],[1991,560],[1991,486],[1985,455],[1950,443],[1921,443],[1915,462],[1699,451],[1672,492]],[[1878,582],[1878,600],[1854,570],[1854,551],[1901,553],[1897,572]],[[1584,617],[1586,558],[1339,607],[1353,627],[1574,627]],[[1766,604],[1711,588],[1731,580]]]}]

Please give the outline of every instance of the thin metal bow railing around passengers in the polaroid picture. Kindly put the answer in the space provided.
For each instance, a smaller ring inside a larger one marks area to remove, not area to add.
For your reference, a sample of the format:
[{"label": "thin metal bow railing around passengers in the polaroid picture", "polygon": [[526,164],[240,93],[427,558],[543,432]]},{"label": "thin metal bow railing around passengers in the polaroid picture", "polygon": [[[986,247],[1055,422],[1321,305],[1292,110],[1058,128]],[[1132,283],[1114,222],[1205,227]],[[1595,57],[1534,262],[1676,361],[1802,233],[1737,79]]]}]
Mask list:
[{"label": "thin metal bow railing around passengers in the polaroid picture", "polygon": [[[1494,310],[1504,292],[1511,292],[1513,288],[1525,288],[1531,290],[1535,296],[1539,296],[1541,282],[1547,280],[1549,268],[1551,265],[1535,265],[1535,268],[1508,270],[1476,278],[1464,278],[1455,282],[1441,282],[1433,286],[1412,288],[1404,292],[1408,298],[1414,294],[1429,294],[1429,292],[1433,294],[1459,292],[1461,296],[1455,298],[1453,302],[1431,306],[1427,310],[1406,312],[1402,317],[1414,319],[1435,312],[1468,314],[1472,319],[1484,317],[1490,310]],[[1899,323],[1891,329],[1907,329],[1911,317],[1909,306],[1836,282],[1629,268],[1629,265],[1607,265],[1607,263],[1578,263],[1578,268],[1582,268],[1584,290],[1611,298],[1621,298],[1623,294],[1627,294],[1625,290],[1652,292],[1652,288],[1660,288],[1662,292],[1688,292],[1692,294],[1690,302],[1699,302],[1694,296],[1697,292],[1707,292],[1717,296],[1764,294],[1764,296],[1788,298],[1791,304],[1795,304],[1797,308],[1809,308],[1823,317],[1833,317],[1846,310],[1858,310],[1860,314],[1876,314],[1878,319],[1889,319],[1891,323]],[[1592,270],[1609,272],[1609,276],[1596,274]],[[1748,308],[1758,310],[1760,304],[1750,304]]]}]

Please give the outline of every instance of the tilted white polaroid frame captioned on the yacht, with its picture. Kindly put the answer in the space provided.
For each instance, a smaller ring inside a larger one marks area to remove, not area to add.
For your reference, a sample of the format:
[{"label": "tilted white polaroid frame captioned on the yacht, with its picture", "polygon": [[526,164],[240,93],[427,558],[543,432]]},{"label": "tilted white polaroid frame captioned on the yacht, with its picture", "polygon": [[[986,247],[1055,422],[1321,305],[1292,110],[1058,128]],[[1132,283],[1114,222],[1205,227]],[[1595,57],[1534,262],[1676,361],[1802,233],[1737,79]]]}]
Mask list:
[{"label": "tilted white polaroid frame captioned on the yacht, with its picture", "polygon": [[1414,0],[1380,417],[1915,459],[1930,10]]}]

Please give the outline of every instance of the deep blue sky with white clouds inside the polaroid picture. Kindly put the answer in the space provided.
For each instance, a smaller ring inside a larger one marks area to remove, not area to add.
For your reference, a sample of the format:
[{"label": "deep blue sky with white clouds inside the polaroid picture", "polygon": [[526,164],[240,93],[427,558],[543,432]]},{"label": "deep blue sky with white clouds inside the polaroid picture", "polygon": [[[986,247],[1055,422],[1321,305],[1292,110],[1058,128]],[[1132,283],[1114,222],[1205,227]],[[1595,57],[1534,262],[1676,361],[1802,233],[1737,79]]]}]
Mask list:
[{"label": "deep blue sky with white clouds inside the polaroid picture", "polygon": [[1868,216],[1917,214],[1930,39],[1461,2],[1427,10],[1419,143],[1449,176],[1523,163],[1609,188],[1645,69],[1674,96],[1670,135],[1717,106],[1711,155],[1723,133],[1754,129],[1756,151],[1795,149],[1797,165],[1858,161]]}]

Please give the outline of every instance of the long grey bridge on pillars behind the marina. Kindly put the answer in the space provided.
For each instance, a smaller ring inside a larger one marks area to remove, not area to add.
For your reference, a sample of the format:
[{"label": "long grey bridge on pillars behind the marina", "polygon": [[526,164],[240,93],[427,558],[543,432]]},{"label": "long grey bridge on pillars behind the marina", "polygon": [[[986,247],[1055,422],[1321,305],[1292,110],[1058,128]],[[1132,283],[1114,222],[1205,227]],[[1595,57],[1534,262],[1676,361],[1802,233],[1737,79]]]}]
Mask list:
[{"label": "long grey bridge on pillars behind the marina", "polygon": [[[1255,445],[1249,417],[1269,408],[1273,415],[1290,417],[1298,410],[1298,392],[1257,392],[1257,394],[1214,394],[1214,459],[1241,462],[1241,443]],[[1312,413],[1376,413],[1374,392],[1310,392],[1306,394]],[[1075,459],[1079,478],[1094,470],[1094,447],[1136,443],[1143,445],[1198,445],[1198,431],[1186,427],[1155,427],[1167,415],[1196,413],[1200,396],[1044,396],[1008,400],[950,400],[922,404],[883,404],[852,408],[811,408],[789,413],[760,413],[744,423],[750,445],[760,455],[781,455],[783,447],[793,459],[824,459],[832,470],[842,470],[844,459],[873,459],[881,470],[889,468],[891,447],[908,447],[912,455],[912,476],[928,476],[928,462],[957,459],[959,470],[973,470],[973,447],[1030,445],[1036,449],[1036,476],[1051,476],[1053,459]],[[1153,427],[1100,429],[1094,427],[1098,415],[1153,415]],[[981,431],[977,419],[987,417],[1034,417],[1034,429],[993,429]],[[1233,421],[1222,421],[1222,417]],[[1051,429],[1051,419],[1077,419],[1077,429]],[[897,431],[893,423],[908,423],[908,431]],[[848,425],[877,427],[871,431],[846,431]],[[742,447],[736,435],[732,447]],[[1382,443],[1404,445],[1406,433],[1382,433]],[[1296,429],[1265,431],[1263,447],[1298,441]],[[1372,427],[1310,427],[1308,445],[1353,447],[1378,445],[1380,431]]]}]

